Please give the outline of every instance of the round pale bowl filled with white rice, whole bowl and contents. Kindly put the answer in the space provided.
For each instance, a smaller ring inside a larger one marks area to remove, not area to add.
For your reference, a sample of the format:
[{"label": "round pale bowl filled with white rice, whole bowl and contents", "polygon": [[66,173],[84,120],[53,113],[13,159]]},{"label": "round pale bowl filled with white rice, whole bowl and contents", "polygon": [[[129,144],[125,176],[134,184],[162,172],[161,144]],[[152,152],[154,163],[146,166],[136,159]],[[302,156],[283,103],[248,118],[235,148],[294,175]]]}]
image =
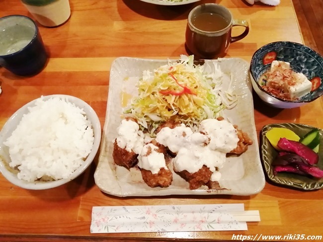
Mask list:
[{"label": "round pale bowl filled with white rice, whole bowl and contents", "polygon": [[11,183],[47,189],[69,182],[90,165],[100,121],[79,98],[50,95],[15,112],[0,131],[0,171]]}]

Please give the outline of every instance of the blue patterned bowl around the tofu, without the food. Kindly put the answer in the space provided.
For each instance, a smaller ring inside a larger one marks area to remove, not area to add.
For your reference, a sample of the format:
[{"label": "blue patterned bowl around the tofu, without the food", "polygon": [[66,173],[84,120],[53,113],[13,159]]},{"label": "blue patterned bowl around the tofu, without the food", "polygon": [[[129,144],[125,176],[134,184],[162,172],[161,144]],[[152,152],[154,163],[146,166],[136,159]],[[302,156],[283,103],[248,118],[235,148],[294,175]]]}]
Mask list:
[{"label": "blue patterned bowl around the tofu, without the food", "polygon": [[263,90],[258,81],[260,76],[270,68],[270,63],[264,63],[263,61],[264,57],[270,52],[276,54],[275,60],[289,62],[293,70],[302,72],[309,80],[313,80],[314,77],[316,77],[316,80],[323,80],[323,58],[314,50],[305,45],[289,41],[267,44],[253,54],[250,63],[252,87],[262,101],[275,108],[289,109],[310,103],[323,94],[322,81],[319,88],[297,101],[286,101]]}]

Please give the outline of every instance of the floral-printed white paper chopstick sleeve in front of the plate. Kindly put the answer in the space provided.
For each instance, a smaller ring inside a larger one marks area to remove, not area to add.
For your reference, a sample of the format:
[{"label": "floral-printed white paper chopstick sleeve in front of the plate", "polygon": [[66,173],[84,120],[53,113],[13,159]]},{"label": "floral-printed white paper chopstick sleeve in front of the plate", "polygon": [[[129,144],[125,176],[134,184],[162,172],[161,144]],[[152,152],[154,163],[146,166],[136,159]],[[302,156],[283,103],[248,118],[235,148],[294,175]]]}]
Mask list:
[{"label": "floral-printed white paper chopstick sleeve in front of the plate", "polygon": [[247,230],[230,211],[243,204],[93,207],[91,233]]}]

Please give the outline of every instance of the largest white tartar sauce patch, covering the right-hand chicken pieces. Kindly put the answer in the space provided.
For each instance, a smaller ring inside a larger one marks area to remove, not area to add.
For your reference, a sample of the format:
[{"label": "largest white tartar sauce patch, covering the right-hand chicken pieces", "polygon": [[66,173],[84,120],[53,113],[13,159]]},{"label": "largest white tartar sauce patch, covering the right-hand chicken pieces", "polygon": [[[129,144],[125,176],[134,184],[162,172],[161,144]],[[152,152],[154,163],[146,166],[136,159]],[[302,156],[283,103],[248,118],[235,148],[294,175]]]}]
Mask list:
[{"label": "largest white tartar sauce patch, covering the right-hand chicken pieces", "polygon": [[238,134],[228,121],[207,119],[200,123],[198,131],[193,133],[184,124],[173,129],[164,127],[157,133],[157,142],[177,153],[173,159],[173,168],[177,172],[197,172],[207,166],[213,173],[211,181],[219,181],[221,173],[216,170],[223,167],[226,154],[237,147]]}]

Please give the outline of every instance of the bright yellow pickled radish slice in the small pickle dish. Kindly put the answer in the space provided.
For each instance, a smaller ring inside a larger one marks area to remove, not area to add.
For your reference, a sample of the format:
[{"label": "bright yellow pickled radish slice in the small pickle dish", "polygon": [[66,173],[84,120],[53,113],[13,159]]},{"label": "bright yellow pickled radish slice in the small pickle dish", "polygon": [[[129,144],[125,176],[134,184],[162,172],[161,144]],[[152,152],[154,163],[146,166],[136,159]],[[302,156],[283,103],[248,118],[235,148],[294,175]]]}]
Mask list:
[{"label": "bright yellow pickled radish slice in the small pickle dish", "polygon": [[288,128],[273,127],[266,132],[266,137],[271,145],[276,149],[280,150],[277,143],[280,138],[286,138],[289,140],[299,141],[300,137]]}]

